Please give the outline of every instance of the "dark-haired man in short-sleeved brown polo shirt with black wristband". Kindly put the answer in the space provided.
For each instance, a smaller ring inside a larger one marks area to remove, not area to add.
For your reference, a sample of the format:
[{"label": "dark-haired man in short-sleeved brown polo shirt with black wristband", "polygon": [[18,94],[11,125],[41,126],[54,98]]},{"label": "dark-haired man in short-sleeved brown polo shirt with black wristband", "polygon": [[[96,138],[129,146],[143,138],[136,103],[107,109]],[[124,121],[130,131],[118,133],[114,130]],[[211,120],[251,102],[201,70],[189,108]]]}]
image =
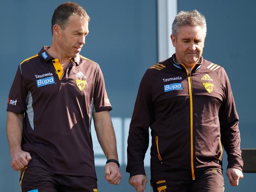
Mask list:
[{"label": "dark-haired man in short-sleeved brown polo shirt with black wristband", "polygon": [[80,5],[61,4],[52,16],[52,46],[18,66],[6,131],[22,192],[97,191],[92,116],[108,159],[105,178],[120,183],[104,78],[97,63],[79,54],[89,20]]}]

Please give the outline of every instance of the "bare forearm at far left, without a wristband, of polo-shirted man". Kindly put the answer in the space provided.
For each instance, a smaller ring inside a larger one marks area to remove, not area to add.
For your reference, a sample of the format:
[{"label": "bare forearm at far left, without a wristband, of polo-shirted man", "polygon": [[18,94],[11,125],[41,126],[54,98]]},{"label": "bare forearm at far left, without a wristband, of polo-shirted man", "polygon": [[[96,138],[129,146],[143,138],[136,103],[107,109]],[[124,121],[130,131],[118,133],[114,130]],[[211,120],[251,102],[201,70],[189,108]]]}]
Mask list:
[{"label": "bare forearm at far left, without a wristband, of polo-shirted man", "polygon": [[21,150],[23,114],[8,111],[6,135],[10,153]]}]

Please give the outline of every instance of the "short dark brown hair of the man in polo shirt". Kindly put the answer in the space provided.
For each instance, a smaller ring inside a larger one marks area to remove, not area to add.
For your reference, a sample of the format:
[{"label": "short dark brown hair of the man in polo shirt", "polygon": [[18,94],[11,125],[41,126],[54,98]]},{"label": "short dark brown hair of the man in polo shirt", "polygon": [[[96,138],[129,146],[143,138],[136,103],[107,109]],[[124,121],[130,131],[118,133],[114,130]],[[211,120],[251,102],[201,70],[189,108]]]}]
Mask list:
[{"label": "short dark brown hair of the man in polo shirt", "polygon": [[61,29],[65,30],[68,24],[69,17],[71,15],[77,15],[80,18],[84,18],[88,22],[90,21],[89,15],[86,13],[82,6],[74,2],[65,2],[59,5],[54,10],[54,13],[52,15],[52,35],[53,26],[56,24],[59,25]]}]

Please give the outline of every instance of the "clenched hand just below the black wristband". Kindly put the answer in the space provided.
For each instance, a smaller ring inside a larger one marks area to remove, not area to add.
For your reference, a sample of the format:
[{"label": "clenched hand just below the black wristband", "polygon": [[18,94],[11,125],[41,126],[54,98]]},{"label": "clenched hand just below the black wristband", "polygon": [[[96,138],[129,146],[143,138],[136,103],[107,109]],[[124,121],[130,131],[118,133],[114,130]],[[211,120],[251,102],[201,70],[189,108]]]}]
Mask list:
[{"label": "clenched hand just below the black wristband", "polygon": [[114,185],[119,185],[121,181],[121,173],[115,162],[109,162],[105,165],[105,179]]}]

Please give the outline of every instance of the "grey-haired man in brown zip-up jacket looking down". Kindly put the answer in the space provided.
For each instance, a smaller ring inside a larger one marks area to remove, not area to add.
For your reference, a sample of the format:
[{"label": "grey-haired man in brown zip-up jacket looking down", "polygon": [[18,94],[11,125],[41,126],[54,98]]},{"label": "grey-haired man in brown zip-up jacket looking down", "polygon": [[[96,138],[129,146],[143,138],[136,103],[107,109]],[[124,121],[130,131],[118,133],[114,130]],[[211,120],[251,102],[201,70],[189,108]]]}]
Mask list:
[{"label": "grey-haired man in brown zip-up jacket looking down", "polygon": [[128,136],[129,182],[145,192],[144,158],[151,129],[151,186],[154,192],[224,191],[227,175],[243,178],[238,116],[228,76],[202,57],[206,20],[198,11],[181,11],[173,22],[175,54],[143,76]]}]

